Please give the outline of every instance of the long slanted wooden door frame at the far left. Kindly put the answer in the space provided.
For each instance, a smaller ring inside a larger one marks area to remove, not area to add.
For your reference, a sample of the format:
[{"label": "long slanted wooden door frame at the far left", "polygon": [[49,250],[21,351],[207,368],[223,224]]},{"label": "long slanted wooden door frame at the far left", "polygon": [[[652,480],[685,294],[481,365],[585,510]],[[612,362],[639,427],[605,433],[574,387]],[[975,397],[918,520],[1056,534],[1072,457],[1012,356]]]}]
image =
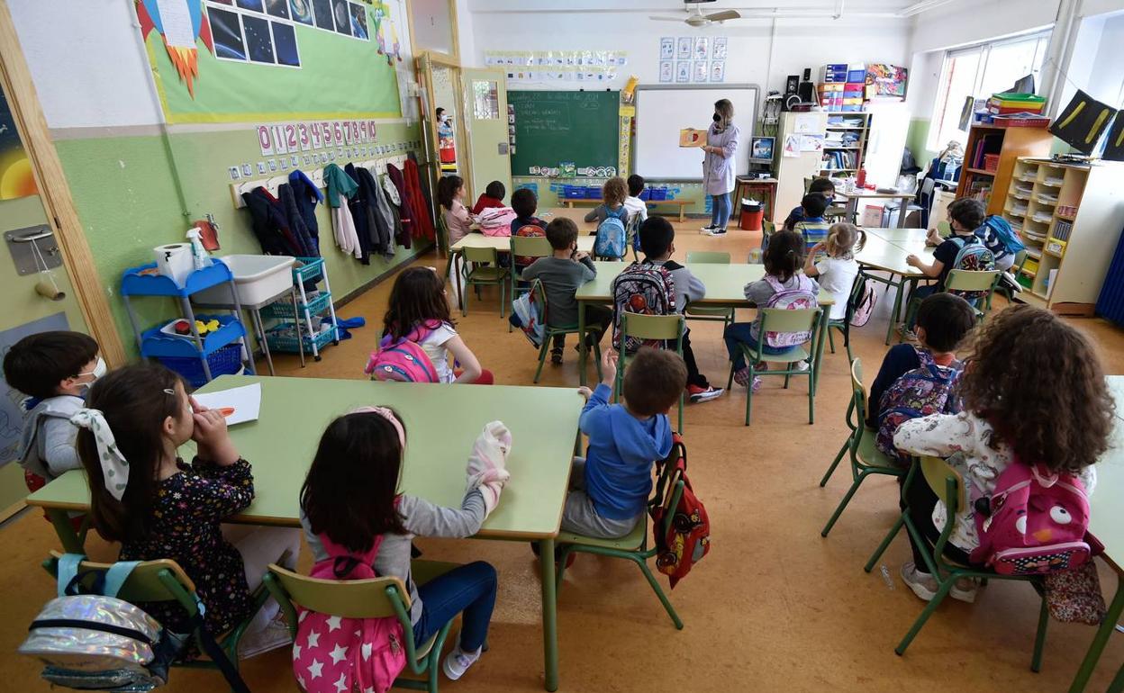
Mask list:
[{"label": "long slanted wooden door frame at the far left", "polygon": [[24,58],[7,0],[0,0],[0,85],[8,97],[47,222],[58,240],[63,266],[70,274],[90,336],[97,339],[101,356],[110,367],[124,365],[125,347],[101,286],[93,253],[74,208],[74,198],[66,184],[58,152],[51,139],[51,130]]}]

